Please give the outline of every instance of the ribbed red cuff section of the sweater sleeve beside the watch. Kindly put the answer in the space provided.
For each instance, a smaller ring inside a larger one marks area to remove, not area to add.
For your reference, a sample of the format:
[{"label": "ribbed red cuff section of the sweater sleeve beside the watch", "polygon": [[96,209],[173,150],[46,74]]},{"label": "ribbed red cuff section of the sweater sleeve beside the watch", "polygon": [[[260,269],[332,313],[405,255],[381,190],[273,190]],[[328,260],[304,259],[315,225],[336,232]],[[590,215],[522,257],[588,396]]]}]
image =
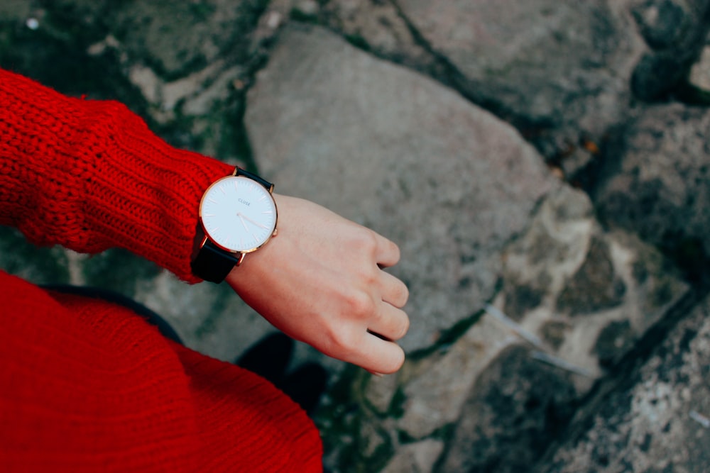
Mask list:
[{"label": "ribbed red cuff section of the sweater sleeve beside the watch", "polygon": [[[178,150],[154,135],[122,104],[102,102],[111,130],[92,128],[107,137],[107,157],[97,160],[96,182],[86,218],[107,245],[125,247],[195,283],[190,260],[198,225],[200,199],[212,182],[234,171],[197,152]],[[106,121],[92,121],[106,123]],[[111,204],[109,215],[102,208]],[[99,239],[100,240],[100,239]]]}]

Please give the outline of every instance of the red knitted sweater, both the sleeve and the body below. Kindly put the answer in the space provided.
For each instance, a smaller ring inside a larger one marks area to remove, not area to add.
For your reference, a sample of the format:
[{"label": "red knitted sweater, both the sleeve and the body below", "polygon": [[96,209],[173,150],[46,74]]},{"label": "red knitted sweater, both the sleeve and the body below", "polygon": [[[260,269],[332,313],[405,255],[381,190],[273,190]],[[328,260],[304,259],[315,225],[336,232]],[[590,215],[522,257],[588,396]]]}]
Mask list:
[{"label": "red knitted sweater, both the sleeve and the body below", "polygon": [[[119,103],[0,70],[0,225],[33,243],[124,247],[197,282],[200,196],[231,170]],[[321,471],[312,422],[256,374],[5,272],[0,304],[0,471]]]}]

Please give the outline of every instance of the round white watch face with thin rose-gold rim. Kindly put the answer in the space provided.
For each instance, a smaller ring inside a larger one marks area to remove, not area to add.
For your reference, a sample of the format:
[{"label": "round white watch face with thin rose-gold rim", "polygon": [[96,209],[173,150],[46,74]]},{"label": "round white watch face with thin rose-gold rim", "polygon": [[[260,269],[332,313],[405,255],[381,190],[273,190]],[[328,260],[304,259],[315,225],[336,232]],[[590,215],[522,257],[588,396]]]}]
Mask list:
[{"label": "round white watch face with thin rose-gold rim", "polygon": [[248,177],[224,177],[200,202],[204,233],[224,250],[250,252],[266,243],[276,228],[276,204],[267,189]]}]

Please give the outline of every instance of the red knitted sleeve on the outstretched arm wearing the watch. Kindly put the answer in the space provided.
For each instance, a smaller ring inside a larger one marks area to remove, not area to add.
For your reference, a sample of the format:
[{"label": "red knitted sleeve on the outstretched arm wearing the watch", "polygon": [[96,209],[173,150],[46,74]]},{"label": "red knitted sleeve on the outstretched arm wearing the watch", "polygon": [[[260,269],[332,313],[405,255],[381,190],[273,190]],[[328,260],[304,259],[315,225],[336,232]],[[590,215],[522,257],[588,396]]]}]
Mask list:
[{"label": "red knitted sleeve on the outstretched arm wearing the watch", "polygon": [[0,69],[0,225],[38,245],[122,247],[188,282],[204,189],[233,167],[172,148],[116,101]]}]

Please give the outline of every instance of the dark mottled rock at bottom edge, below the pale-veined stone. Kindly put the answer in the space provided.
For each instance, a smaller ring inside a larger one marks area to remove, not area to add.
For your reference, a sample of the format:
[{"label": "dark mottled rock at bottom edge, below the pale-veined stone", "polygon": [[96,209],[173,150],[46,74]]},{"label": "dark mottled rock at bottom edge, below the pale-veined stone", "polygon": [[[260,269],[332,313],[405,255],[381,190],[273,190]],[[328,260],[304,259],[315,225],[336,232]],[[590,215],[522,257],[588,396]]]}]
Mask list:
[{"label": "dark mottled rock at bottom edge, below the pale-veined stone", "polygon": [[523,472],[574,412],[572,375],[520,345],[476,381],[437,472]]}]

